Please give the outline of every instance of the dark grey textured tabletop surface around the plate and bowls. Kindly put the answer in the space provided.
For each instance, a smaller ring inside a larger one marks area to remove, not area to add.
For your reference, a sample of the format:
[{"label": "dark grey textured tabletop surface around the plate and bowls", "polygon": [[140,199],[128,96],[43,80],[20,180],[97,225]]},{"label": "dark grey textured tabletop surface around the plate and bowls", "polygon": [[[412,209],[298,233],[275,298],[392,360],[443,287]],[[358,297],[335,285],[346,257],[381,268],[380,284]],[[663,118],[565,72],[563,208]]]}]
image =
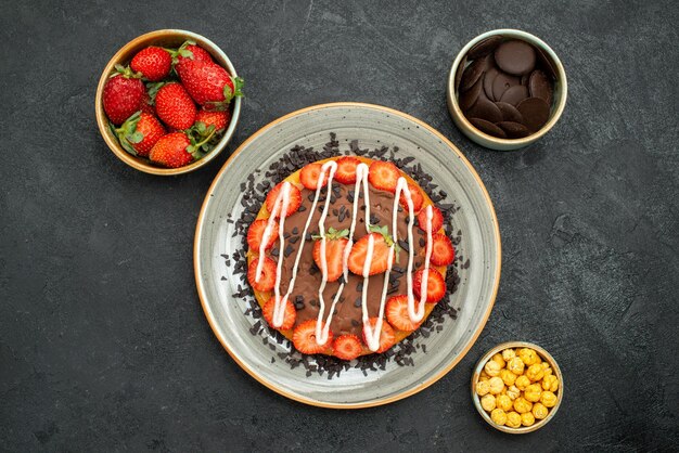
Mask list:
[{"label": "dark grey textured tabletop surface around the plate and bowls", "polygon": [[[679,156],[674,1],[8,2],[0,15],[0,450],[667,450],[679,441]],[[229,151],[308,105],[363,101],[450,138],[503,240],[490,320],[436,385],[384,407],[308,407],[213,336],[195,292],[201,202],[227,159],[179,178],[106,147],[94,91],[128,40],[184,28],[247,80]],[[558,126],[513,153],[452,125],[448,68],[479,33],[545,39],[568,74]],[[551,424],[512,437],[469,397],[497,342],[559,360]]]}]

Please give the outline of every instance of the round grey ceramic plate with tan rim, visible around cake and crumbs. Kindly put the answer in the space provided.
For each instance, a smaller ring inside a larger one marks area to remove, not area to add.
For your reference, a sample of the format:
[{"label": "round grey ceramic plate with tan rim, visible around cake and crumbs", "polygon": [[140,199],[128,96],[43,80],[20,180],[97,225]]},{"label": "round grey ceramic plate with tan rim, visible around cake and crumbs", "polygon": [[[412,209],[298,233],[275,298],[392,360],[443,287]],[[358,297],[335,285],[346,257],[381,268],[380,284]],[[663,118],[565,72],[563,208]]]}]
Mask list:
[{"label": "round grey ceramic plate with tan rim, visible around cake and crumbs", "polygon": [[[240,251],[242,240],[232,237],[234,225],[227,221],[241,216],[243,196],[240,185],[256,169],[265,170],[296,144],[322,150],[335,132],[340,148],[351,140],[361,148],[398,146],[397,157],[412,156],[433,182],[448,193],[443,203],[454,203],[453,231],[462,231],[457,253],[470,258],[460,269],[458,290],[450,296],[458,309],[456,320],[445,318],[443,331],[427,338],[426,353],[418,349],[411,355],[414,366],[399,366],[393,361],[384,371],[358,368],[343,371],[328,379],[317,373],[307,377],[304,366],[294,370],[280,360],[286,349],[276,341],[271,350],[261,336],[253,335],[255,324],[245,315],[249,305],[232,296],[240,276],[233,275],[221,255]],[[348,141],[345,141],[348,140]],[[483,329],[500,282],[500,233],[488,193],[478,174],[458,148],[426,124],[390,108],[336,103],[317,105],[286,115],[246,140],[219,171],[203,203],[194,243],[194,270],[198,296],[205,315],[219,341],[251,376],[291,399],[326,407],[348,409],[386,404],[413,394],[441,378],[464,357]],[[222,280],[226,277],[226,280]],[[271,363],[271,359],[274,362]]]}]

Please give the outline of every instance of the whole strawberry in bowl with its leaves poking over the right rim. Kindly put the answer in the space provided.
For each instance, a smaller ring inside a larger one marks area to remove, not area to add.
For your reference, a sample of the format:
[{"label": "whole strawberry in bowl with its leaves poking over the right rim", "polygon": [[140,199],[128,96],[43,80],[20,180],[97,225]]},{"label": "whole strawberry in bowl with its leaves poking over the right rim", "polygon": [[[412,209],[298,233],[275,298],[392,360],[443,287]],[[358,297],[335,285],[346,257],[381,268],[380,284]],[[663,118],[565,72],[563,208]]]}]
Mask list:
[{"label": "whole strawberry in bowl with its leaves poking over the right rim", "polygon": [[243,79],[231,77],[217,63],[185,60],[178,73],[191,98],[212,109],[225,109],[233,98],[243,95]]}]

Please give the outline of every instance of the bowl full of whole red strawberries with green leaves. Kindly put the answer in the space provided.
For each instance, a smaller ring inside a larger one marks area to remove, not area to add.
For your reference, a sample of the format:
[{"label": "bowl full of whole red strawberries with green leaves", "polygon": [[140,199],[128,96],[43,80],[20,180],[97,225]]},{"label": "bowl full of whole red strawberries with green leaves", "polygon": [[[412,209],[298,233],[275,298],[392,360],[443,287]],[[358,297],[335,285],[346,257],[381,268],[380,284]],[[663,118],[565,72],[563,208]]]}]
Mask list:
[{"label": "bowl full of whole red strawberries with green leaves", "polygon": [[180,174],[213,160],[231,140],[243,80],[214,42],[184,30],[157,30],[111,59],[97,88],[97,122],[127,165]]}]

